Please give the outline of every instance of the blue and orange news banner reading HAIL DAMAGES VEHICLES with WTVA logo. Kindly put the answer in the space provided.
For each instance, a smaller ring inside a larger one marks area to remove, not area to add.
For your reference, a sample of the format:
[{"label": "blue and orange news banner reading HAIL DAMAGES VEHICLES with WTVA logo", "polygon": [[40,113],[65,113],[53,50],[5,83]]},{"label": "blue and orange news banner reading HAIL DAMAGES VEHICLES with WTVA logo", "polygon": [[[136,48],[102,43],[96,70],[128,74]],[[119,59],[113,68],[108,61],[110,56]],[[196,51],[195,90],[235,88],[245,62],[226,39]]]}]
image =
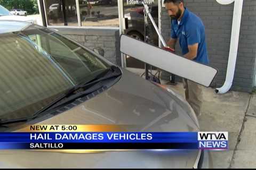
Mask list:
[{"label": "blue and orange news banner reading HAIL DAMAGES VEHICLES with WTVA logo", "polygon": [[0,133],[0,149],[228,149],[228,132],[125,129],[121,125],[30,125]]}]

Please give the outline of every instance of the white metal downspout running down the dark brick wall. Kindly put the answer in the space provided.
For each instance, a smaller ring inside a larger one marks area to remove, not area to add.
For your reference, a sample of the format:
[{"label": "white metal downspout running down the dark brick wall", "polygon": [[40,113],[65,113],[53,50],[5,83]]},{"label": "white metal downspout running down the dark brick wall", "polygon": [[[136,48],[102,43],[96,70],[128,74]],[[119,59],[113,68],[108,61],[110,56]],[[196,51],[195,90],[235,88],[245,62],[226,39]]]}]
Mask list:
[{"label": "white metal downspout running down the dark brick wall", "polygon": [[240,32],[241,18],[242,18],[243,0],[216,0],[216,1],[222,5],[227,5],[235,2],[226,80],[221,88],[215,89],[216,93],[225,94],[231,88],[234,80],[239,32]]}]

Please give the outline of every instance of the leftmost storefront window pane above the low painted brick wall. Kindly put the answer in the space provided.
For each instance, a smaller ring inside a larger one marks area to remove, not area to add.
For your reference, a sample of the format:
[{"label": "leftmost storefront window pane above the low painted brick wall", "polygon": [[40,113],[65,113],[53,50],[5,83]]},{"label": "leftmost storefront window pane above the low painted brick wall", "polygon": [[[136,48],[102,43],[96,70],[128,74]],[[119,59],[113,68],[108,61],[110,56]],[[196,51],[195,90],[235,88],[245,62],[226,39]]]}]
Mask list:
[{"label": "leftmost storefront window pane above the low painted brick wall", "polygon": [[45,0],[48,25],[78,26],[75,0]]}]

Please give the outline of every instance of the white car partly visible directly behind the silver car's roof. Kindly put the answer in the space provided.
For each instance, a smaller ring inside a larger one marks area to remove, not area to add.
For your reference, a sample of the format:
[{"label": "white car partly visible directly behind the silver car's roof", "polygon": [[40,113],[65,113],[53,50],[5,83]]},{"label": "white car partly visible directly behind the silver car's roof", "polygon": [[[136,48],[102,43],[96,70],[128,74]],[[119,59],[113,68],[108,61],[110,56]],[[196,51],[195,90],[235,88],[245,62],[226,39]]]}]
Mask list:
[{"label": "white car partly visible directly behind the silver car's roof", "polygon": [[30,23],[40,23],[39,19],[31,18],[29,16],[17,16],[13,15],[10,11],[8,11],[5,7],[0,5],[0,20],[14,20],[14,21],[25,21]]}]

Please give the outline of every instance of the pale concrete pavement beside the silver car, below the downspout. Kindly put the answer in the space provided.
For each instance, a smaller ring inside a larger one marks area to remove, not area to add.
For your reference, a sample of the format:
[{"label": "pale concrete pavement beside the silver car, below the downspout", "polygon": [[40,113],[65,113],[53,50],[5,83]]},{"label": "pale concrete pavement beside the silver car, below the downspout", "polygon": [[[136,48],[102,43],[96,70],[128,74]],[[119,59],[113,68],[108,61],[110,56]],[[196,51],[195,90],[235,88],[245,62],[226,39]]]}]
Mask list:
[{"label": "pale concrete pavement beside the silver car, below the downspout", "polygon": [[[166,86],[184,94],[182,83]],[[202,115],[198,117],[201,131],[229,132],[229,150],[211,151],[213,167],[256,168],[256,94],[229,91],[218,95],[214,89],[203,87],[203,101]]]}]

